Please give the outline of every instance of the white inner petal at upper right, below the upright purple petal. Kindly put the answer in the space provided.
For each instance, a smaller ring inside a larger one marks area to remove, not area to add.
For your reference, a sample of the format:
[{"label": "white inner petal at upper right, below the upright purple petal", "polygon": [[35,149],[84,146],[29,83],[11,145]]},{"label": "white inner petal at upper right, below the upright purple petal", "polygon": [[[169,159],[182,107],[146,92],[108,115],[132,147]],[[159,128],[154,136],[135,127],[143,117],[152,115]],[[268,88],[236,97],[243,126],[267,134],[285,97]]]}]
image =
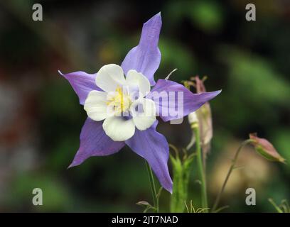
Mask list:
[{"label": "white inner petal at upper right, below the upright purple petal", "polygon": [[144,97],[150,92],[150,82],[144,74],[136,72],[136,70],[129,70],[126,76],[126,82],[131,92],[140,92],[141,97]]}]

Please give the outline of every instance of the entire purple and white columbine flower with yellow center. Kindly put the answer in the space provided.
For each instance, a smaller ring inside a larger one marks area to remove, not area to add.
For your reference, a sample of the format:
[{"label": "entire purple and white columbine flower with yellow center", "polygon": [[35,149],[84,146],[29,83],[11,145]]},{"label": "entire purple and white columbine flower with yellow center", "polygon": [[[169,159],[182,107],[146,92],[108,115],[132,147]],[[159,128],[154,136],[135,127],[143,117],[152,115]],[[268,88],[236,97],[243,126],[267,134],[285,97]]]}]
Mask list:
[{"label": "entire purple and white columbine flower with yellow center", "polygon": [[[193,94],[168,79],[154,81],[161,61],[160,30],[161,14],[158,13],[144,23],[139,45],[129,51],[121,66],[104,65],[96,74],[62,74],[79,96],[88,116],[80,133],[80,148],[70,167],[80,165],[91,156],[112,155],[128,145],[149,162],[162,187],[172,192],[168,143],[156,131],[156,116],[163,121],[181,118],[220,91]],[[151,86],[154,87],[151,89]]]}]

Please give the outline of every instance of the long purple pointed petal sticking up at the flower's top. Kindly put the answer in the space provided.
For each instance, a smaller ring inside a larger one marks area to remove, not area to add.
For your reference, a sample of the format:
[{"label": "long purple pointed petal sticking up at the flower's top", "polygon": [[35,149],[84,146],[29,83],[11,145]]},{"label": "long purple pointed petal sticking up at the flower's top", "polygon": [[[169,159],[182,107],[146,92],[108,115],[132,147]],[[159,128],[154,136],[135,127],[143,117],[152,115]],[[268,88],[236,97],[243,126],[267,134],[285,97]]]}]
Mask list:
[{"label": "long purple pointed petal sticking up at the flower's top", "polygon": [[161,52],[158,48],[161,25],[161,13],[157,13],[144,23],[139,45],[128,52],[121,65],[125,74],[129,70],[141,72],[149,79],[151,85],[155,84],[154,73],[161,61]]}]

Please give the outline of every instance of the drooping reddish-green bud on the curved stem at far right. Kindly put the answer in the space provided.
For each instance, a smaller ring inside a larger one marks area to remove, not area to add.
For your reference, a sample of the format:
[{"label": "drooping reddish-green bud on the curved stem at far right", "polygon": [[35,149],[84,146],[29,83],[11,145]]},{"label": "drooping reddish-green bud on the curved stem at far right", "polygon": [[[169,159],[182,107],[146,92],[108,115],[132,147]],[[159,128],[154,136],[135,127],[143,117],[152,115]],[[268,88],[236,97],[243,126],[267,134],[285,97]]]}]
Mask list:
[{"label": "drooping reddish-green bud on the curved stem at far right", "polygon": [[268,140],[257,137],[257,133],[250,133],[249,138],[253,140],[252,145],[254,145],[257,153],[265,157],[267,160],[285,163],[284,157],[281,157],[281,155],[277,153],[272,143]]}]

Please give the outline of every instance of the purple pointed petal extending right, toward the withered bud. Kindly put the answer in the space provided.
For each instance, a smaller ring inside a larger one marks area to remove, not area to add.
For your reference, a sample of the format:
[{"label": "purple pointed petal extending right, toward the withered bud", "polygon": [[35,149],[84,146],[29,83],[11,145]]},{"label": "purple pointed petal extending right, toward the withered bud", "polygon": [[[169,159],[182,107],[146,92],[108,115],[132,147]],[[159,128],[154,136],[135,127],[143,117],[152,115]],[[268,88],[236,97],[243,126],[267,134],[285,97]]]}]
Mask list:
[{"label": "purple pointed petal extending right, toward the withered bud", "polygon": [[181,84],[167,79],[159,79],[146,97],[154,100],[157,115],[163,121],[171,121],[197,110],[220,92],[221,90],[193,94]]}]

